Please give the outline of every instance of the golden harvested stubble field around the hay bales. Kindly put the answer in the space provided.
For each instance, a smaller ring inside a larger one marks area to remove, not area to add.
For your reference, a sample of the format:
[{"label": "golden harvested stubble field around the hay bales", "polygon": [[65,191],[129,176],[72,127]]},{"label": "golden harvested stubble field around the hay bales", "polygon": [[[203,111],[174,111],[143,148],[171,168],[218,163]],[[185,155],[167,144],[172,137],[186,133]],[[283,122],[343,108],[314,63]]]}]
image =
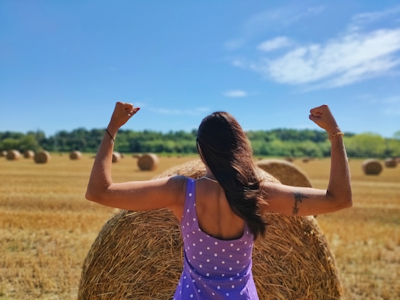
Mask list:
[{"label": "golden harvested stubble field around the hay bales", "polygon": [[[152,179],[196,156],[159,158],[141,171],[125,156],[112,165],[115,182]],[[400,299],[400,168],[365,175],[352,159],[348,210],[316,218],[335,255],[345,299]],[[293,163],[324,189],[329,161]],[[115,213],[84,193],[93,154],[53,155],[46,164],[0,159],[0,299],[76,299],[81,270],[100,229]],[[101,296],[98,299],[102,299]]]}]

